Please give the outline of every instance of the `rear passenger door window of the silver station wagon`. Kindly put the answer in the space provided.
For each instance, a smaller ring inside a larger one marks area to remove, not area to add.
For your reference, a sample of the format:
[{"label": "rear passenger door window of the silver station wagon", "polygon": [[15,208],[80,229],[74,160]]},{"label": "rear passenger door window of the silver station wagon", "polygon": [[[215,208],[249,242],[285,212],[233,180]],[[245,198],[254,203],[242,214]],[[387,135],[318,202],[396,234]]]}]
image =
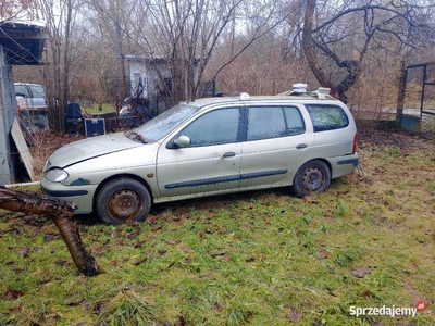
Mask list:
[{"label": "rear passenger door window of the silver station wagon", "polygon": [[248,141],[285,137],[303,131],[302,116],[295,106],[249,108]]}]

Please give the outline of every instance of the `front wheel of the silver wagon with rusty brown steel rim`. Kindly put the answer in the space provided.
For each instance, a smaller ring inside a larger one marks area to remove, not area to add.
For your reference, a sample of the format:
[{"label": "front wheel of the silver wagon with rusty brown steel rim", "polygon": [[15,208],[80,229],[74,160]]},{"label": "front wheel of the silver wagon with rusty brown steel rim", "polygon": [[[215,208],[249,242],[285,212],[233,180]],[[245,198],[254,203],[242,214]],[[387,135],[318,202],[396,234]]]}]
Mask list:
[{"label": "front wheel of the silver wagon with rusty brown steel rim", "polygon": [[97,195],[98,216],[108,224],[141,222],[151,208],[148,189],[133,178],[117,178],[105,184]]}]

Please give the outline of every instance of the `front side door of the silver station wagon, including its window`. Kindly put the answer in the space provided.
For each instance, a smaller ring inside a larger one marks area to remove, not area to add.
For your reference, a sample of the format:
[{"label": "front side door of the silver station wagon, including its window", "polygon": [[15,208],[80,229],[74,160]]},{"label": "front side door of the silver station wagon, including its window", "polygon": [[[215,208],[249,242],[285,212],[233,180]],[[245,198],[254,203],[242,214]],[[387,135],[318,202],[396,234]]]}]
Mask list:
[{"label": "front side door of the silver station wagon, including its window", "polygon": [[[240,109],[224,108],[204,113],[184,127],[157,158],[161,196],[186,197],[219,192],[240,185]],[[188,137],[189,145],[174,145]],[[177,142],[177,141],[175,141]]]}]

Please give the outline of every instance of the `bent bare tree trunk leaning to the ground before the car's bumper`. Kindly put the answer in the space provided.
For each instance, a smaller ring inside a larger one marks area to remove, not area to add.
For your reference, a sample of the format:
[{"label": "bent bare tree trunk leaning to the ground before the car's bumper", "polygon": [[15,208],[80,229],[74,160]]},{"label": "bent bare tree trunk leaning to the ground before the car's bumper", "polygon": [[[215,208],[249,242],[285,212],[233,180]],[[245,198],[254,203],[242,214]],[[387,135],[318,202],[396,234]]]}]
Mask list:
[{"label": "bent bare tree trunk leaning to the ground before the car's bumper", "polygon": [[86,251],[77,228],[69,220],[76,209],[74,203],[13,191],[0,186],[0,209],[51,218],[65,241],[78,271],[85,276],[95,276],[100,272],[92,255]]}]

